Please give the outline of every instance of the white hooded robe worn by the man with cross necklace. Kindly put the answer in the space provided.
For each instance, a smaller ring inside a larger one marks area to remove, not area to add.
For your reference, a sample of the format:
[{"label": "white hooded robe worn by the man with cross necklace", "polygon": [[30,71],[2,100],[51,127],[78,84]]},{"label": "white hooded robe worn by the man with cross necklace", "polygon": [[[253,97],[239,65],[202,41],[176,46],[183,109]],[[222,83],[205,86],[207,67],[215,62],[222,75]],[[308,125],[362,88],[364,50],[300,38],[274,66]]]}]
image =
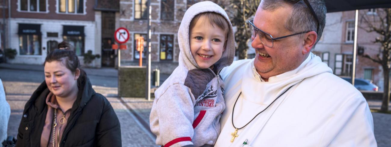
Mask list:
[{"label": "white hooded robe worn by the man with cross necklace", "polygon": [[[310,53],[296,69],[260,79],[254,59],[239,60],[222,70],[226,109],[216,147],[376,147],[373,118],[368,103],[355,87],[332,74],[321,59]],[[273,104],[272,101],[294,85]],[[239,93],[242,94],[239,96]],[[238,137],[231,143],[233,123]]]}]

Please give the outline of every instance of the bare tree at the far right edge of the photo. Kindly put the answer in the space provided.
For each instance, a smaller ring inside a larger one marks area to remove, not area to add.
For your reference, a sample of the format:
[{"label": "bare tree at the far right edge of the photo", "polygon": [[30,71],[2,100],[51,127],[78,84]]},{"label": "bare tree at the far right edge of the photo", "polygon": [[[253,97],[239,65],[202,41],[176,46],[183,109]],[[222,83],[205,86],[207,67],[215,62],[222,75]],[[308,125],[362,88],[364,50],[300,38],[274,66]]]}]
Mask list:
[{"label": "bare tree at the far right edge of the photo", "polygon": [[376,9],[376,15],[363,14],[361,19],[366,26],[360,28],[368,33],[375,32],[379,35],[373,41],[381,44],[376,57],[368,54],[362,56],[380,64],[383,68],[384,94],[380,111],[387,112],[390,101],[391,8]]}]

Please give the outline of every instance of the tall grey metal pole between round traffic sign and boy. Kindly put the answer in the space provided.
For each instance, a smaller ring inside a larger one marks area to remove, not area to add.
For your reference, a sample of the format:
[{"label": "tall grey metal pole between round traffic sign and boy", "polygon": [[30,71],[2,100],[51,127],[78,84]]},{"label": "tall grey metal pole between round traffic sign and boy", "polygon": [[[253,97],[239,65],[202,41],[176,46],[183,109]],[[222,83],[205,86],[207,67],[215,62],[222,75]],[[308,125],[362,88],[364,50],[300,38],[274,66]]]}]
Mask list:
[{"label": "tall grey metal pole between round traffic sign and boy", "polygon": [[147,26],[147,76],[145,80],[145,99],[151,101],[151,0],[148,0],[148,26]]}]

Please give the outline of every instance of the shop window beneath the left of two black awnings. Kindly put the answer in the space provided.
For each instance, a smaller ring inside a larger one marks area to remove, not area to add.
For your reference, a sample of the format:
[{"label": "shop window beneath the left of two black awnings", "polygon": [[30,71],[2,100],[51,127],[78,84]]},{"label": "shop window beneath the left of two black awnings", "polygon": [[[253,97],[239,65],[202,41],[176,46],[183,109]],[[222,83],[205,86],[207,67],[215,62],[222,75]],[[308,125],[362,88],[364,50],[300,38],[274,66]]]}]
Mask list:
[{"label": "shop window beneath the left of two black awnings", "polygon": [[41,36],[20,34],[19,54],[20,55],[41,55]]}]

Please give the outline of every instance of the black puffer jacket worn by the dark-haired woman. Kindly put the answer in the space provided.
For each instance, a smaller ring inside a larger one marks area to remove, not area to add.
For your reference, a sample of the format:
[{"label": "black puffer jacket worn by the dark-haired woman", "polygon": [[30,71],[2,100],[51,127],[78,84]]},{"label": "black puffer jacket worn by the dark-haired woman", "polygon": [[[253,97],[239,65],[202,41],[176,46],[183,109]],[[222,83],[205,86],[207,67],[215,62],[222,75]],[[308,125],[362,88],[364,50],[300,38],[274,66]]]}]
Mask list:
[{"label": "black puffer jacket worn by the dark-haired woman", "polygon": [[[120,122],[113,107],[106,97],[92,89],[84,71],[77,82],[79,93],[71,108],[60,147],[120,147]],[[39,147],[48,111],[45,99],[49,92],[44,81],[27,101],[16,147]]]}]

